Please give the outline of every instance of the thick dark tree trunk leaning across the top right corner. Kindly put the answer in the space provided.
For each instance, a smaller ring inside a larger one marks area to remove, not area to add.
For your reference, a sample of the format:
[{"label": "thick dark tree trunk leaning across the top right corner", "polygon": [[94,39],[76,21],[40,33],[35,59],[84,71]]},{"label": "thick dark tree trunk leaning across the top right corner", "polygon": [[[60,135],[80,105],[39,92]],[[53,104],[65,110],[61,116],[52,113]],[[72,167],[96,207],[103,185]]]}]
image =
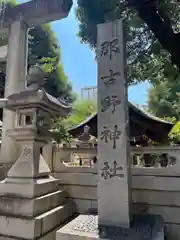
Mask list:
[{"label": "thick dark tree trunk leaning across the top right corner", "polygon": [[172,64],[180,68],[180,34],[173,32],[166,13],[158,9],[153,0],[128,0],[128,5],[137,10],[139,17],[148,25],[162,47],[170,53]]}]

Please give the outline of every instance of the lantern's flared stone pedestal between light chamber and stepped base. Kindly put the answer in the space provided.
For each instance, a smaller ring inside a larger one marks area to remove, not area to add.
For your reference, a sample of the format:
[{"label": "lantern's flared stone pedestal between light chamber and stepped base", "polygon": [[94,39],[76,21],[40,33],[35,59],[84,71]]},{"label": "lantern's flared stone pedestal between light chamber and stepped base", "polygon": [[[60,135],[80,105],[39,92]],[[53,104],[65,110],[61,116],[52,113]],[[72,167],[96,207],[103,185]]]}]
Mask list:
[{"label": "lantern's flared stone pedestal between light chamber and stepped base", "polygon": [[42,147],[48,142],[43,136],[38,136],[36,129],[33,128],[9,130],[8,135],[21,146],[21,154],[7,176],[10,178],[49,176],[50,169],[41,155]]}]

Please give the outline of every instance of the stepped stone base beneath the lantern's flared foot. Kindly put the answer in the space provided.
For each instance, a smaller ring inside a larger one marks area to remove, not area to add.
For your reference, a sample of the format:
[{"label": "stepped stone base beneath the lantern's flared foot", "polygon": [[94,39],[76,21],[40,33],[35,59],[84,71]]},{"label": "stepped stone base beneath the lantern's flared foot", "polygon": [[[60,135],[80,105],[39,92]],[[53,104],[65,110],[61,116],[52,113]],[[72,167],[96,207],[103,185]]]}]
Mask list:
[{"label": "stepped stone base beneath the lantern's flared foot", "polygon": [[72,216],[73,205],[59,181],[7,178],[0,183],[0,239],[55,239],[55,230]]}]

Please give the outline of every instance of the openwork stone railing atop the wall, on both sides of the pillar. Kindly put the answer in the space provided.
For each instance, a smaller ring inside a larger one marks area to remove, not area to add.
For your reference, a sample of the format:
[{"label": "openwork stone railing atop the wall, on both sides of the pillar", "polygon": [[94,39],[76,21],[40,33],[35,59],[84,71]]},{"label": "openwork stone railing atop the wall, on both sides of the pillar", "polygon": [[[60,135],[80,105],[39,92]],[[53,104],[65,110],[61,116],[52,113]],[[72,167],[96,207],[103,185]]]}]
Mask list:
[{"label": "openwork stone railing atop the wall, on both sides of the pillar", "polygon": [[[47,151],[48,150],[48,151]],[[51,146],[46,150],[51,167],[96,167],[97,148],[62,148]],[[180,147],[131,147],[132,167],[147,169],[179,169]],[[46,158],[46,157],[45,157]]]}]

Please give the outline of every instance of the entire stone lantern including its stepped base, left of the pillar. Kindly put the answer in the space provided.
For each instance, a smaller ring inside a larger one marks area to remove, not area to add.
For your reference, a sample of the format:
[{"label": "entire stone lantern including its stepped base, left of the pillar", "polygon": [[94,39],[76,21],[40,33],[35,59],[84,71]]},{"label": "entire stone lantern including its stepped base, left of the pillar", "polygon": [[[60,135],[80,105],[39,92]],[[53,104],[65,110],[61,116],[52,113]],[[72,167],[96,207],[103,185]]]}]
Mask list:
[{"label": "entire stone lantern including its stepped base, left of the pillar", "polygon": [[19,158],[0,182],[0,234],[6,239],[55,239],[55,229],[74,211],[41,155],[42,146],[52,139],[51,117],[67,116],[71,108],[49,95],[43,82],[42,69],[31,67],[28,87],[0,101],[16,113],[7,134],[21,146]]}]

